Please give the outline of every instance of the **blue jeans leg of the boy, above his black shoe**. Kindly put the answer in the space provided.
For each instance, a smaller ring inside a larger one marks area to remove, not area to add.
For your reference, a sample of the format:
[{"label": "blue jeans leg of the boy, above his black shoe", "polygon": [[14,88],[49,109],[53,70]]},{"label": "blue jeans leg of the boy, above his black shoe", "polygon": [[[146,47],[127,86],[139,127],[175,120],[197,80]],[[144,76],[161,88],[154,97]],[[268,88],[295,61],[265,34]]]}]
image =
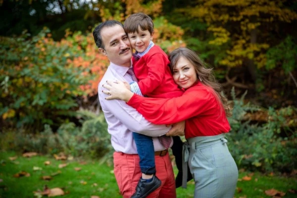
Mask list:
[{"label": "blue jeans leg of the boy, above his black shoe", "polygon": [[154,147],[151,137],[133,132],[133,138],[140,158],[141,172],[146,175],[155,174]]}]

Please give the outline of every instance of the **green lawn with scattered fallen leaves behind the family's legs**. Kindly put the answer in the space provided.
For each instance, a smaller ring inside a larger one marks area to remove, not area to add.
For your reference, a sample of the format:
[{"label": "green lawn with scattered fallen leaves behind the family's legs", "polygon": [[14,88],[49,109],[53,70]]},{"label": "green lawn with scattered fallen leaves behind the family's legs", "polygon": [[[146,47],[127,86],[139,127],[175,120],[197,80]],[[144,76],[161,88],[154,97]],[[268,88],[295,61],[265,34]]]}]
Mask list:
[{"label": "green lawn with scattered fallen leaves behind the family's legs", "polygon": [[[100,198],[121,198],[119,190],[112,172],[112,167],[99,165],[98,160],[87,160],[87,164],[82,165],[78,160],[58,161],[53,157],[34,156],[25,158],[21,155],[14,161],[8,157],[15,156],[15,152],[0,152],[0,198],[32,198],[33,191],[43,190],[47,185],[49,188],[62,188],[68,194],[65,198],[90,198],[99,196]],[[50,161],[50,165],[45,165],[45,161]],[[60,163],[68,163],[64,168],[58,168]],[[33,167],[41,167],[42,170],[34,171]],[[81,167],[80,171],[75,171],[75,167]],[[51,175],[58,170],[60,174],[53,176],[52,180],[42,180],[42,176]],[[26,171],[30,177],[13,177],[14,174]],[[176,171],[176,169],[175,169]],[[240,174],[240,178],[248,173]],[[280,176],[264,176],[255,173],[250,181],[239,181],[238,187],[241,193],[236,193],[235,197],[246,198],[269,198],[265,195],[265,190],[276,189],[286,193],[285,198],[296,198],[296,194],[288,192],[289,189],[297,187],[297,178],[286,178]],[[256,180],[256,181],[255,181]],[[97,184],[95,186],[94,184]],[[178,188],[178,198],[193,198],[194,182],[188,183],[187,189]]]}]

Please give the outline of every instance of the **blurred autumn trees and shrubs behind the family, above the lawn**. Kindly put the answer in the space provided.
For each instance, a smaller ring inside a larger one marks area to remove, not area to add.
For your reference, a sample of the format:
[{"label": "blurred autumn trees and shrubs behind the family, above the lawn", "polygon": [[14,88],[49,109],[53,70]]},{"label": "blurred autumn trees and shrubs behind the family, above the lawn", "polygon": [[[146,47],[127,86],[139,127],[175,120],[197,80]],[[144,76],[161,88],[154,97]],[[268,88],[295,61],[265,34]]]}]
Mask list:
[{"label": "blurred autumn trees and shrubs behind the family, above the lawn", "polygon": [[297,0],[0,0],[0,149],[112,164],[92,30],[135,12],[166,52],[187,46],[214,68],[239,168],[296,178]]}]

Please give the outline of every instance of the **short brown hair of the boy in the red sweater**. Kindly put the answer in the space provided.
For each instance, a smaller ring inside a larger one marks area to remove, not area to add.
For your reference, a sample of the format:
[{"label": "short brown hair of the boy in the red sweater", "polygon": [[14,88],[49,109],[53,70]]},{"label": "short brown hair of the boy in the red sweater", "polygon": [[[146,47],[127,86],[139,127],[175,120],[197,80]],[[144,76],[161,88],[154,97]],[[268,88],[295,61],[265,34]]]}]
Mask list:
[{"label": "short brown hair of the boy in the red sweater", "polygon": [[139,33],[138,26],[143,31],[148,30],[150,34],[153,32],[153,22],[145,13],[139,12],[131,14],[124,22],[124,30],[127,34],[134,32]]}]

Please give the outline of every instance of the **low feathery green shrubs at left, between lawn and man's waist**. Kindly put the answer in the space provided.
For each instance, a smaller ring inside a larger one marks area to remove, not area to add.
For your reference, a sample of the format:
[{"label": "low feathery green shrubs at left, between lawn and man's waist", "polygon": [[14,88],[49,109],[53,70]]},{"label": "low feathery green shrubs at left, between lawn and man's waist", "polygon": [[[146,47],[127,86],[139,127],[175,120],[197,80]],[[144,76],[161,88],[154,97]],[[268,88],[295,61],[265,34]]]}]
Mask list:
[{"label": "low feathery green shrubs at left, between lawn and man's waist", "polygon": [[113,148],[103,114],[77,111],[76,115],[82,122],[81,127],[69,122],[62,124],[57,133],[53,133],[47,124],[44,131],[36,134],[26,134],[22,130],[2,133],[1,143],[6,142],[2,149],[18,152],[35,151],[43,154],[63,152],[75,157],[102,158],[102,162],[111,163]]}]

